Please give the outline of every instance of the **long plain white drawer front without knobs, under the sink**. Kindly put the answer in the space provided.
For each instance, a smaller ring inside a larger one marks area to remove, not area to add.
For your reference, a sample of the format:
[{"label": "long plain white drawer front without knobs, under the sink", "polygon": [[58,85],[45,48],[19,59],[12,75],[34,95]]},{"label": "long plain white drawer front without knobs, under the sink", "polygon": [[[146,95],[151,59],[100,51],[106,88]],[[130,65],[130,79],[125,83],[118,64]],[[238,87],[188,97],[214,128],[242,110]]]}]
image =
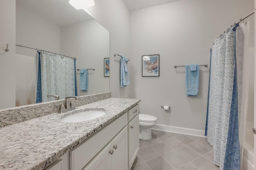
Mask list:
[{"label": "long plain white drawer front without knobs, under the sink", "polygon": [[84,167],[127,123],[126,112],[91,138],[70,150],[70,170],[80,170]]}]

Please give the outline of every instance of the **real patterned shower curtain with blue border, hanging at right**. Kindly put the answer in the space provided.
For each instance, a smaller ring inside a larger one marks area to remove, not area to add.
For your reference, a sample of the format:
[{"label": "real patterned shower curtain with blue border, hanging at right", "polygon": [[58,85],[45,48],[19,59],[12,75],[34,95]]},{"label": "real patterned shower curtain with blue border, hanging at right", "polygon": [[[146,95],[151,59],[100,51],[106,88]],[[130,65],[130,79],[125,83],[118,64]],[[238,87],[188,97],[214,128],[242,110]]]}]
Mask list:
[{"label": "real patterned shower curtain with blue border, hanging at right", "polygon": [[220,170],[240,170],[238,126],[235,27],[226,29],[211,50],[206,136]]}]

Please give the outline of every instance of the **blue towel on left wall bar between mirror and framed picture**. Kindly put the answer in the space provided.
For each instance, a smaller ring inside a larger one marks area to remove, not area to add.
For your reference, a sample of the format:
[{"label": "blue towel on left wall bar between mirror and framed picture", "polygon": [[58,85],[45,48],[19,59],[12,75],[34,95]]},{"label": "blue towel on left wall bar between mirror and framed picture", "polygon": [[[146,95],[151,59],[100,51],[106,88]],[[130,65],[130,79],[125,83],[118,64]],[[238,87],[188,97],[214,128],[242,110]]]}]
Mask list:
[{"label": "blue towel on left wall bar between mirror and framed picture", "polygon": [[129,77],[128,77],[128,58],[122,55],[120,59],[120,85],[121,87],[126,87],[129,85]]}]

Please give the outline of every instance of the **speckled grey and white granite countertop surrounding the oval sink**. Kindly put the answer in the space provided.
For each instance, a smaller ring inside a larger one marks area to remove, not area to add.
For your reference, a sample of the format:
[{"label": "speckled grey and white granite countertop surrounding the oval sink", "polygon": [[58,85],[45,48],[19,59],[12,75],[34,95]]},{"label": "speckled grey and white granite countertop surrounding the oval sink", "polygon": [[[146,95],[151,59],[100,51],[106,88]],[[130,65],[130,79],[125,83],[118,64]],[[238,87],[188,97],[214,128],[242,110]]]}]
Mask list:
[{"label": "speckled grey and white granite countertop surrounding the oval sink", "polygon": [[102,117],[79,123],[62,123],[70,114],[53,113],[0,128],[0,169],[44,169],[60,156],[92,136],[140,102],[139,99],[109,98],[76,110],[102,108]]}]

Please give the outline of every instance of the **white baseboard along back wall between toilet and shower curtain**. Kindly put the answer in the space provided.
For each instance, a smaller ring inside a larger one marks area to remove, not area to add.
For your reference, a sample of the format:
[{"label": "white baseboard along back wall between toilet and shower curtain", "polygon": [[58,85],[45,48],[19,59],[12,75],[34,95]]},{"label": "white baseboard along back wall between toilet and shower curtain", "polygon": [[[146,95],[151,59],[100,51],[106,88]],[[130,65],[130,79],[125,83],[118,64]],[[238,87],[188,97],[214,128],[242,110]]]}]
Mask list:
[{"label": "white baseboard along back wall between toilet and shower curtain", "polygon": [[173,126],[156,124],[156,125],[154,125],[154,127],[152,127],[152,129],[206,137],[206,136],[204,136],[204,134],[205,134],[204,130],[197,130],[197,129],[192,129],[192,128],[182,128],[182,127],[173,127]]}]

